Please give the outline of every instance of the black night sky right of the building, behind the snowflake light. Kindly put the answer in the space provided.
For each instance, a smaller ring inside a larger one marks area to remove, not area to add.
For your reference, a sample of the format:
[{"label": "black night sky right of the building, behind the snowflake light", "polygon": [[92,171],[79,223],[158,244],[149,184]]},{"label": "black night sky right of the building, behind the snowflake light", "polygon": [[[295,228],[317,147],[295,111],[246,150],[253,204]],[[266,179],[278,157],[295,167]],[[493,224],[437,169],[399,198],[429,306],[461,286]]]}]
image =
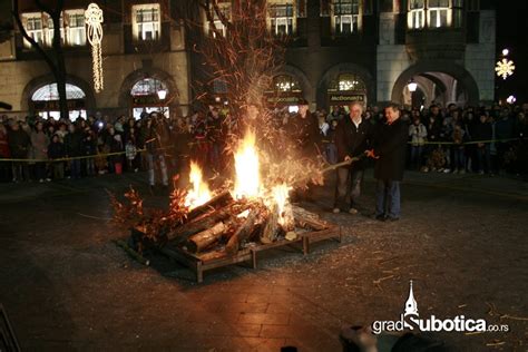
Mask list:
[{"label": "black night sky right of the building, behind the snowflake light", "polygon": [[[497,99],[509,95],[517,97],[517,102],[528,102],[528,1],[496,0],[497,10],[497,57],[508,48],[508,57],[514,60],[514,76],[502,80],[496,79]],[[517,20],[516,17],[522,17]]]}]

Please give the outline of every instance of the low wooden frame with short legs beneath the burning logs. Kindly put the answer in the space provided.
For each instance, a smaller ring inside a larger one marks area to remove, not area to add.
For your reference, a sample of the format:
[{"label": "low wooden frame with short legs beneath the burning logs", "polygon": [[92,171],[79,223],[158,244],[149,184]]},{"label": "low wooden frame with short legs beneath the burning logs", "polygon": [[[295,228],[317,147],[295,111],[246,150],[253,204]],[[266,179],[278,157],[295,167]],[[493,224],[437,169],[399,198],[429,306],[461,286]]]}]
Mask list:
[{"label": "low wooden frame with short legs beneath the burning logs", "polygon": [[338,242],[341,242],[341,226],[331,226],[321,231],[301,233],[299,234],[299,237],[294,241],[281,239],[271,244],[254,245],[238,251],[238,253],[235,255],[226,255],[224,257],[217,257],[212,260],[202,260],[198,255],[189,253],[179,247],[164,247],[160,248],[159,252],[190,268],[196,274],[196,282],[202,283],[204,281],[204,272],[206,271],[250,261],[252,267],[256,268],[257,254],[260,252],[284,246],[293,246],[295,244],[302,244],[302,253],[304,255],[307,255],[310,253],[311,243],[316,243],[324,239],[336,239]]}]

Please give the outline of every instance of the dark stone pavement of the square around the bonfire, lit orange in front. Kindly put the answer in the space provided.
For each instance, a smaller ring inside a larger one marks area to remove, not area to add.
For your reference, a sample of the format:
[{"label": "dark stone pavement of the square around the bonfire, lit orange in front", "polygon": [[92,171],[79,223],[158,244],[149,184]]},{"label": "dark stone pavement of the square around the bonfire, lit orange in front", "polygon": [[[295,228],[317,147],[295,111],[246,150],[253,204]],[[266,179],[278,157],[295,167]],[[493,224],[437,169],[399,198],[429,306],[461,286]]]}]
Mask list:
[{"label": "dark stone pavement of the square around the bonfire, lit orange in front", "polygon": [[[528,186],[505,177],[408,173],[403,217],[379,223],[372,176],[359,215],[331,214],[332,187],[304,204],[345,228],[303,257],[262,255],[203,284],[177,264],[133,262],[113,238],[106,189],[143,174],[0,185],[0,303],[23,350],[340,351],[344,324],[397,320],[414,281],[420,316],[486,319],[508,333],[437,333],[461,351],[528,349]],[[149,205],[166,205],[160,190]]]}]

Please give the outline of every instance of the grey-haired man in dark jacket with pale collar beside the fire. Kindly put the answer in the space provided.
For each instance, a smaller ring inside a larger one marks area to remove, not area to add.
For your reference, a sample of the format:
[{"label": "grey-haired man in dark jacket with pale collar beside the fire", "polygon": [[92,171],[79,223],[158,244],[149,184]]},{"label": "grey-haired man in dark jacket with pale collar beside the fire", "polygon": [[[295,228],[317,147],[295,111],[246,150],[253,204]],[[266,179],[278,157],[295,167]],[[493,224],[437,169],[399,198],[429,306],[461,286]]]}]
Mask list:
[{"label": "grey-haired man in dark jacket with pale collar beside the fire", "polygon": [[[335,129],[339,163],[362,155],[369,148],[372,125],[362,118],[362,113],[363,106],[359,102],[352,102],[349,116],[345,116]],[[356,202],[361,194],[364,168],[364,159],[360,159],[350,166],[338,168],[334,213],[345,211],[350,214],[358,214]]]}]

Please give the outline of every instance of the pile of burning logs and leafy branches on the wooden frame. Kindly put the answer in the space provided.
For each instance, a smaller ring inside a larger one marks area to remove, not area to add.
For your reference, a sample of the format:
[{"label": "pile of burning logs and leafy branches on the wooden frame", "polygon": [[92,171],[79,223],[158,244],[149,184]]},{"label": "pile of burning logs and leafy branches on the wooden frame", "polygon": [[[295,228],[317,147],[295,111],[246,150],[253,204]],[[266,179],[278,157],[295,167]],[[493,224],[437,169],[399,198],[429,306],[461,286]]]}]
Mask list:
[{"label": "pile of burning logs and leafy branches on the wooden frame", "polygon": [[170,244],[206,261],[235,255],[247,245],[294,241],[302,232],[329,228],[317,215],[291,204],[278,214],[276,205],[234,199],[225,190],[188,211],[180,206],[179,199],[184,196],[173,195],[166,214],[143,208],[134,189],[125,195],[128,205],[113,197],[115,221],[130,228],[129,250],[143,255],[146,250]]}]

